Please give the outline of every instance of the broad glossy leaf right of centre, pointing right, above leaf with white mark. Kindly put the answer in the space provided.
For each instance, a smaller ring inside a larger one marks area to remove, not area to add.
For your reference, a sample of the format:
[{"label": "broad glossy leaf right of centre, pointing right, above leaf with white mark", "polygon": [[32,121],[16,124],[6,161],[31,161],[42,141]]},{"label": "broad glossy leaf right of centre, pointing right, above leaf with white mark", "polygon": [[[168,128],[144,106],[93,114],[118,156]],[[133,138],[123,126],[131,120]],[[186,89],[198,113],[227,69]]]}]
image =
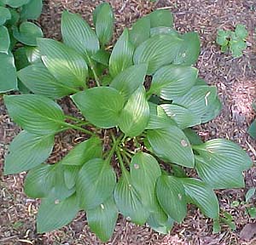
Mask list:
[{"label": "broad glossy leaf right of centre, pointing right, above leaf with white mark", "polygon": [[156,71],[149,93],[172,100],[189,92],[195,84],[198,70],[191,66],[164,66]]}]

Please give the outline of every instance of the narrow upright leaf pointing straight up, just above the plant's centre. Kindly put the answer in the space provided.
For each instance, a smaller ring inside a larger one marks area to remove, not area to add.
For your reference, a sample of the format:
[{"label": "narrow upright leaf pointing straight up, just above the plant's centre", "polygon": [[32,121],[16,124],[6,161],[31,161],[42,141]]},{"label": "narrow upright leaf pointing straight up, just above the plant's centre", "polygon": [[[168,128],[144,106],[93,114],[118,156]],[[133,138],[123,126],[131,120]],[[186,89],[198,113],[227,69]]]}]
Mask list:
[{"label": "narrow upright leaf pointing straight up, just above the plant's centre", "polygon": [[125,28],[110,55],[109,72],[112,77],[116,77],[121,71],[132,66],[133,52],[134,46],[130,42],[128,29]]}]

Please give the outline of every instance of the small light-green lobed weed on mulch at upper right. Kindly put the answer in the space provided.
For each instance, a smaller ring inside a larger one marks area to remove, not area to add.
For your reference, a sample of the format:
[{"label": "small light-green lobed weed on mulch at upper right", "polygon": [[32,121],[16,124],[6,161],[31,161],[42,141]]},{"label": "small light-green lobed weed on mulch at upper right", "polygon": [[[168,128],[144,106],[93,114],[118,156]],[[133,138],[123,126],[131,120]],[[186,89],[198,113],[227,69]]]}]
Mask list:
[{"label": "small light-green lobed weed on mulch at upper right", "polygon": [[247,29],[244,25],[237,24],[235,31],[218,30],[216,42],[221,46],[221,51],[230,49],[233,57],[241,57],[242,50],[247,48]]}]

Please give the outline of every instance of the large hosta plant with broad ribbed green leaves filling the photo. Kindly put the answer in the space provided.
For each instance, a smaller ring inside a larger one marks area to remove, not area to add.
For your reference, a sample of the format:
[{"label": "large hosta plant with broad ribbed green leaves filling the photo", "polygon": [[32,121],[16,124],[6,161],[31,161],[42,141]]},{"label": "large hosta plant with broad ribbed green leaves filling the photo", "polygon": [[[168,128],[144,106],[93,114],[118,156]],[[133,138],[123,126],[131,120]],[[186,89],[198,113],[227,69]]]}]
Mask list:
[{"label": "large hosta plant with broad ribbed green leaves filling the photo", "polygon": [[[38,38],[40,59],[18,72],[33,94],[4,96],[9,116],[23,128],[4,171],[29,170],[26,194],[42,199],[38,232],[84,211],[102,241],[112,236],[118,214],[167,233],[183,221],[188,203],[218,222],[214,190],[243,187],[252,161],[235,143],[202,142],[191,129],[221,108],[217,89],[193,66],[198,35],[175,31],[170,11],[156,10],[125,28],[110,52],[110,5],[99,5],[93,17],[95,29],[65,11],[62,43]],[[64,96],[81,117],[61,110]],[[55,134],[68,128],[84,133],[84,141],[60,162],[46,163]]]}]

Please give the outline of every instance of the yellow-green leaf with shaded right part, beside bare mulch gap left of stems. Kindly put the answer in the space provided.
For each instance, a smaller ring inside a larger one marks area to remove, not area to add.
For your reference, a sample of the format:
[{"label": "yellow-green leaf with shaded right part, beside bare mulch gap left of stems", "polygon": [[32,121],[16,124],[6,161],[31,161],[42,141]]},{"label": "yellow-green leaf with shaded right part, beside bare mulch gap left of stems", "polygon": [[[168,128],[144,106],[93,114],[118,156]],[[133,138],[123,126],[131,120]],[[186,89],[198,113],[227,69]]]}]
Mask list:
[{"label": "yellow-green leaf with shaded right part, beside bare mulch gap left of stems", "polygon": [[102,140],[92,137],[75,145],[67,156],[61,160],[61,164],[81,166],[92,158],[102,157]]}]

